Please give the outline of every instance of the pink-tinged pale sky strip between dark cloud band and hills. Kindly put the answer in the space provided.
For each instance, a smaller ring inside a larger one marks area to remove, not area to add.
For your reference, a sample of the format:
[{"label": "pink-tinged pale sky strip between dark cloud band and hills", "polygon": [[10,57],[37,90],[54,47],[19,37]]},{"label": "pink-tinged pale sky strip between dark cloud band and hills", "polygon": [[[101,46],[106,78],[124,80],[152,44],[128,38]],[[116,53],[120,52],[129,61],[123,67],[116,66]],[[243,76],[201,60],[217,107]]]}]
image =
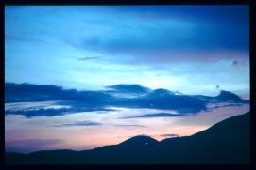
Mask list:
[{"label": "pink-tinged pale sky strip between dark cloud band and hills", "polygon": [[[134,109],[136,110],[136,109]],[[76,113],[66,116],[39,116],[28,119],[25,116],[6,116],[6,149],[31,152],[43,149],[68,148],[90,149],[121,143],[135,135],[150,135],[162,140],[163,134],[192,135],[230,116],[244,114],[249,105],[223,107],[196,116],[118,119],[118,116],[134,112],[120,110],[108,114]],[[145,110],[136,110],[145,112]],[[94,115],[97,116],[94,116]],[[103,122],[98,126],[54,127],[61,123],[79,120]],[[124,126],[128,125],[128,126]]]}]

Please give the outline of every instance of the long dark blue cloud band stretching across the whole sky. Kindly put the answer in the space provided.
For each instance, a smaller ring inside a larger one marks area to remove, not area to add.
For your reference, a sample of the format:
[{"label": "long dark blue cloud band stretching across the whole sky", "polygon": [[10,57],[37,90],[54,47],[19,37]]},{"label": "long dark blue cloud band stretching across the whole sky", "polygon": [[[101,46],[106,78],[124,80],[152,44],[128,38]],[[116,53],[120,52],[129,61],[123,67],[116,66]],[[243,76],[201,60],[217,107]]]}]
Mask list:
[{"label": "long dark blue cloud band stretching across the whole sky", "polygon": [[[5,102],[37,102],[55,100],[58,105],[68,108],[34,110],[6,109],[6,114],[32,116],[59,116],[74,112],[112,111],[108,107],[126,107],[142,109],[174,110],[178,115],[158,113],[154,116],[145,114],[140,117],[185,116],[207,111],[208,104],[228,102],[228,104],[244,104],[239,96],[222,90],[216,97],[202,95],[184,95],[166,89],[149,89],[141,85],[111,85],[111,90],[77,91],[63,89],[58,85],[5,84]],[[122,94],[115,96],[116,93]],[[128,98],[128,93],[143,94]],[[27,104],[27,103],[26,103]]]}]

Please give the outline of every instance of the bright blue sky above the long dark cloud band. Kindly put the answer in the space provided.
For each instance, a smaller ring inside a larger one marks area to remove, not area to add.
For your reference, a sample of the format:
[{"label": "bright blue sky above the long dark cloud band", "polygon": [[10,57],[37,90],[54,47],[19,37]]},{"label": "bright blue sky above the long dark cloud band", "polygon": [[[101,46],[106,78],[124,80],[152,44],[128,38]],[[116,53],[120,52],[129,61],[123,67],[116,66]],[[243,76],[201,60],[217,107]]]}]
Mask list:
[{"label": "bright blue sky above the long dark cloud band", "polygon": [[6,82],[248,95],[247,6],[25,6],[5,18]]}]

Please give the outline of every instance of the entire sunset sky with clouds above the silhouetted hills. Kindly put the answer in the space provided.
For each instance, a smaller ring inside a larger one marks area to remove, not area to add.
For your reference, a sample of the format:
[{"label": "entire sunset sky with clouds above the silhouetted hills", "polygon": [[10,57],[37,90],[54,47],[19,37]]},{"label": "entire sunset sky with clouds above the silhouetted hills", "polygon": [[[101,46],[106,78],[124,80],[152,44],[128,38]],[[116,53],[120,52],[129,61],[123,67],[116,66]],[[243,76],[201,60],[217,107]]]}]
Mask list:
[{"label": "entire sunset sky with clouds above the silhouetted hills", "polygon": [[192,135],[249,111],[247,6],[6,6],[7,151]]}]

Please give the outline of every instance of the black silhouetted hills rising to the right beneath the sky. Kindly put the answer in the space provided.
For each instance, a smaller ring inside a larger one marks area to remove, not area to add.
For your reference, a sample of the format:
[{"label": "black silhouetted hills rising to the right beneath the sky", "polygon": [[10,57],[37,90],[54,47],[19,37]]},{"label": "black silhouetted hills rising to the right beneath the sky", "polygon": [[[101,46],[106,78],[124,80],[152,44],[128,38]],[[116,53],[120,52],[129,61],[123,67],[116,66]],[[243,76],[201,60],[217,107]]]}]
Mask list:
[{"label": "black silhouetted hills rising to the right beneath the sky", "polygon": [[6,164],[213,164],[250,162],[249,113],[232,116],[192,136],[160,142],[135,136],[92,150],[6,153]]}]

